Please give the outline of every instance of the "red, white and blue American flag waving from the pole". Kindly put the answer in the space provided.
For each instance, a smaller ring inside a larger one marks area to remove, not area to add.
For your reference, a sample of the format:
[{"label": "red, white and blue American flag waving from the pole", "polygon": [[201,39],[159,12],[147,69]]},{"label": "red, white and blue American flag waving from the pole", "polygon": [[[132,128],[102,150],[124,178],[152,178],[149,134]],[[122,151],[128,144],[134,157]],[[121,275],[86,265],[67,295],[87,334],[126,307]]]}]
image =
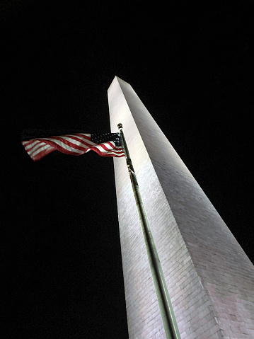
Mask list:
[{"label": "red, white and blue American flag waving from the pole", "polygon": [[73,156],[81,156],[88,151],[95,151],[100,156],[125,156],[119,133],[66,134],[25,140],[22,144],[33,161],[38,161],[56,150]]}]

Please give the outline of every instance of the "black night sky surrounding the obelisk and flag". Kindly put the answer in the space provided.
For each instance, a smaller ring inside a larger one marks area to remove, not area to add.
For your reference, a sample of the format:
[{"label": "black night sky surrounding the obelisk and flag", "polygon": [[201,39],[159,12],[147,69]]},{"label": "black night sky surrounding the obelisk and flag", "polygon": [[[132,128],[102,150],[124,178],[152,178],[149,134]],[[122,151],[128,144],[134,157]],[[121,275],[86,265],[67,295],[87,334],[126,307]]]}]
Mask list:
[{"label": "black night sky surrounding the obelisk and flag", "polygon": [[250,2],[91,2],[1,1],[3,339],[128,338],[112,158],[21,144],[110,132],[115,75],[254,262]]}]

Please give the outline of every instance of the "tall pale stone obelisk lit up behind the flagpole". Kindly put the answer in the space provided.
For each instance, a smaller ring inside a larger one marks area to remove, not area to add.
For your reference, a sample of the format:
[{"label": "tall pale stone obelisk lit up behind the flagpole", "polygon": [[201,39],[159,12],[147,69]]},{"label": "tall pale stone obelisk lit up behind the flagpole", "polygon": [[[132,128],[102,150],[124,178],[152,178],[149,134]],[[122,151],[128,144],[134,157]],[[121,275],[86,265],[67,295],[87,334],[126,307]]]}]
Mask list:
[{"label": "tall pale stone obelisk lit up behind the flagpole", "polygon": [[[254,338],[254,267],[132,86],[115,76],[122,123],[182,339]],[[166,338],[125,159],[114,159],[129,339]]]}]

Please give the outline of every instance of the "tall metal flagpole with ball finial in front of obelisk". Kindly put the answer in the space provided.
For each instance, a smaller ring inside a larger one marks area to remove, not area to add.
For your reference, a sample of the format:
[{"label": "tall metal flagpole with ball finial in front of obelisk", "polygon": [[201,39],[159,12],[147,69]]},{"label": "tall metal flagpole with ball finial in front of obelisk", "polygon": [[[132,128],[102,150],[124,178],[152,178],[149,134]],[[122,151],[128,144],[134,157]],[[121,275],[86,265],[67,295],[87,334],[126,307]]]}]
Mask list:
[{"label": "tall metal flagpole with ball finial in front of obelisk", "polygon": [[142,226],[142,232],[144,236],[144,242],[146,244],[146,251],[149,258],[149,264],[151,268],[151,274],[154,279],[154,285],[156,289],[156,294],[158,298],[158,304],[161,310],[161,316],[163,320],[163,325],[166,333],[167,339],[180,339],[180,333],[178,330],[178,325],[175,320],[175,315],[173,313],[173,307],[171,300],[168,295],[168,288],[166,286],[165,278],[163,276],[161,262],[158,258],[158,253],[154,243],[154,238],[151,234],[151,229],[149,226],[148,219],[146,217],[146,212],[144,209],[142,197],[139,191],[139,184],[137,182],[137,176],[134,172],[132,165],[132,160],[129,156],[129,150],[125,140],[125,134],[122,130],[122,124],[117,125],[120,137],[122,148],[125,152],[127,168],[129,171],[130,180],[132,182],[132,190],[136,200],[137,210],[139,213],[139,221]]}]

